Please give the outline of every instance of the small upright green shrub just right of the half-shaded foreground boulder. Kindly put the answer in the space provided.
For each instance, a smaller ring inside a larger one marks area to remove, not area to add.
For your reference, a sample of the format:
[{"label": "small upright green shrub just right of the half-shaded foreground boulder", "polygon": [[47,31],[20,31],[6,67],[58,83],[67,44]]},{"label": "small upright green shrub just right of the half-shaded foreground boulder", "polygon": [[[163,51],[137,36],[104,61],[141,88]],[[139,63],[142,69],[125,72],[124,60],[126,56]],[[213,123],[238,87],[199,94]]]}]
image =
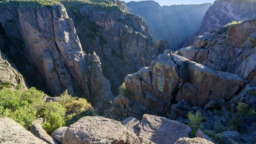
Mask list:
[{"label": "small upright green shrub just right of the half-shaded foreground boulder", "polygon": [[203,121],[203,116],[200,112],[196,112],[195,114],[192,114],[192,113],[189,113],[188,115],[188,118],[190,120],[189,122],[189,126],[191,128],[191,133],[190,133],[190,137],[194,137],[195,134],[196,134],[196,130],[199,128],[199,129],[203,129],[203,126],[202,126],[202,121]]}]

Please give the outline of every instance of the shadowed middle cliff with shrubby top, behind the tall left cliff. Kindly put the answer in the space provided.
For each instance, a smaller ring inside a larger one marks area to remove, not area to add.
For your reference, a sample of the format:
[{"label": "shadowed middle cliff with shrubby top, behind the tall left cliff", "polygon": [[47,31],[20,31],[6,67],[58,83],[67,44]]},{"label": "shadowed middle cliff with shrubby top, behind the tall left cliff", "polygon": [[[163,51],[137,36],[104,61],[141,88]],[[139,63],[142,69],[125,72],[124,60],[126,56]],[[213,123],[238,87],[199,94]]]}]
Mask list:
[{"label": "shadowed middle cliff with shrubby top, behind the tall left cliff", "polygon": [[83,50],[100,57],[104,76],[110,80],[114,95],[125,76],[149,66],[158,55],[156,44],[141,17],[126,12],[126,5],[116,1],[109,8],[94,4],[63,4],[71,10]]}]

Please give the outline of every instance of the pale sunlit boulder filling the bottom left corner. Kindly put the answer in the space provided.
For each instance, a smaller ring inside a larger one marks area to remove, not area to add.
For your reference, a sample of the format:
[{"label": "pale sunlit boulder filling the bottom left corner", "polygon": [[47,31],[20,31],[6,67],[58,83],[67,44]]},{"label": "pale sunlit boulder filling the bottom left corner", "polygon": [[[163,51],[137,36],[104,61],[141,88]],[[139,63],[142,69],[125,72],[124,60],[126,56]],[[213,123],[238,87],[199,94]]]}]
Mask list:
[{"label": "pale sunlit boulder filling the bottom left corner", "polygon": [[2,144],[47,144],[10,118],[0,117],[0,125],[0,143]]}]

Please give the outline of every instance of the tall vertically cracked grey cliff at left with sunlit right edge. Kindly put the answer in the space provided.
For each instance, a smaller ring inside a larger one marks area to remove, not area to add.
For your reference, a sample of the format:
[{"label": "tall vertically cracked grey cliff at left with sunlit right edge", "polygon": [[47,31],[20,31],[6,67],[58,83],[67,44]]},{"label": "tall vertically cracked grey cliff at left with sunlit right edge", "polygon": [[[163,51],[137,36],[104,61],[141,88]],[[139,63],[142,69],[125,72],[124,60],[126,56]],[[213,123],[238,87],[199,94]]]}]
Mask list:
[{"label": "tall vertically cracked grey cliff at left with sunlit right edge", "polygon": [[113,100],[109,80],[102,74],[99,57],[82,50],[63,5],[2,5],[0,10],[6,35],[24,44],[24,56],[39,70],[52,95],[67,89],[72,95],[85,96],[100,114],[106,113]]}]

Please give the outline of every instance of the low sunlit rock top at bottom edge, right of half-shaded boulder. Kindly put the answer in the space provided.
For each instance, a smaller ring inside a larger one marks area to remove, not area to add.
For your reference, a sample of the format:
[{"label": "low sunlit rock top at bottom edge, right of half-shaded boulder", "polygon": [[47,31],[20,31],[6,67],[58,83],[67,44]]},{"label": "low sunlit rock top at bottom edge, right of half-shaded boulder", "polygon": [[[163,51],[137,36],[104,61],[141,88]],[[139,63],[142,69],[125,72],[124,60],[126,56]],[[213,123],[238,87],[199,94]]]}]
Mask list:
[{"label": "low sunlit rock top at bottom edge, right of half-shaded boulder", "polygon": [[207,141],[206,139],[203,138],[180,138],[175,142],[175,144],[213,144],[210,141]]}]

